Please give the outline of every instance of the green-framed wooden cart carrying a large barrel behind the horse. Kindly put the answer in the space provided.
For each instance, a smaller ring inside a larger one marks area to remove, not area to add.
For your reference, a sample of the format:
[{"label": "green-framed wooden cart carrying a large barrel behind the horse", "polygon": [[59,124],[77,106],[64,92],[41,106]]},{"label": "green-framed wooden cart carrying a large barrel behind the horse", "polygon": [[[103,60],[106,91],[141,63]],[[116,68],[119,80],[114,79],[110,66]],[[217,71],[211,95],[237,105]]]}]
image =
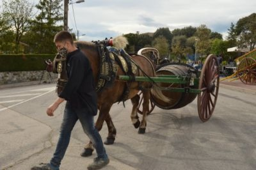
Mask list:
[{"label": "green-framed wooden cart carrying a large barrel behind the horse", "polygon": [[[217,57],[209,55],[199,72],[183,63],[165,63],[157,67],[157,77],[135,77],[135,81],[149,81],[158,84],[163,94],[171,99],[170,103],[159,100],[151,93],[150,112],[157,106],[162,109],[177,109],[191,103],[197,97],[197,110],[200,120],[210,119],[217,103],[219,91],[219,68]],[[118,76],[128,81],[129,76]],[[143,95],[140,93],[140,95]],[[141,97],[142,98],[142,97]],[[142,99],[138,112],[141,113]]]}]

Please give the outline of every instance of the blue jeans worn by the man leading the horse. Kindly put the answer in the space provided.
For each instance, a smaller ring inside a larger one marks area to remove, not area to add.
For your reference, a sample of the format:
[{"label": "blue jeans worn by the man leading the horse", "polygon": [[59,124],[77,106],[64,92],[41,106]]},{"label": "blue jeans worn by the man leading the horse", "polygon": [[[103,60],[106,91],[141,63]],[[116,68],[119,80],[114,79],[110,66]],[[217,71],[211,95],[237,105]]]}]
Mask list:
[{"label": "blue jeans worn by the man leading the horse", "polygon": [[98,157],[103,159],[108,158],[108,155],[106,154],[106,150],[102,143],[101,136],[99,135],[98,130],[95,128],[93,117],[94,116],[89,112],[75,112],[67,101],[64,109],[63,121],[60,128],[59,141],[57,143],[56,151],[53,154],[53,158],[50,161],[53,166],[60,166],[61,160],[63,159],[69,144],[71,131],[74,128],[78,119],[82,124],[84,133],[86,133],[86,135],[93,143]]}]

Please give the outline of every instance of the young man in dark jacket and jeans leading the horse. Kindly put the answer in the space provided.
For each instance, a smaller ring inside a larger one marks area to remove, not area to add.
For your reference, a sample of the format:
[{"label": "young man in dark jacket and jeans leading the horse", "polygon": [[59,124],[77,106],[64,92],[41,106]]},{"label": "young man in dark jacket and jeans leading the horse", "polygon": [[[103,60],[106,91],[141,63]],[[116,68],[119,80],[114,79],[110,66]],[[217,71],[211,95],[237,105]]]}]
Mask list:
[{"label": "young man in dark jacket and jeans leading the horse", "polygon": [[59,98],[47,108],[47,115],[53,112],[66,100],[60,137],[56,151],[50,163],[31,170],[59,170],[61,160],[67,150],[71,131],[77,120],[82,124],[84,132],[93,142],[97,158],[87,169],[100,169],[109,163],[108,155],[103,146],[101,136],[94,126],[93,117],[97,114],[97,93],[94,86],[93,72],[89,60],[75,47],[73,37],[68,31],[60,31],[54,37],[59,53],[67,55],[68,82]]}]

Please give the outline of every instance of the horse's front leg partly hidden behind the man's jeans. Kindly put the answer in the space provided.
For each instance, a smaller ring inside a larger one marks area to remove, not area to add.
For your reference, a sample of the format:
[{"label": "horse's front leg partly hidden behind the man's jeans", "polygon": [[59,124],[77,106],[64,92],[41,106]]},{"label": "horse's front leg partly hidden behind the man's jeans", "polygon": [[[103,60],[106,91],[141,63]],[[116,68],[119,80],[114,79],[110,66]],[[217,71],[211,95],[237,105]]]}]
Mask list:
[{"label": "horse's front leg partly hidden behind the man's jeans", "polygon": [[[95,128],[100,131],[103,125],[104,120],[106,119],[106,117],[108,116],[108,113],[110,111],[112,105],[106,104],[103,105],[102,107],[100,107],[99,109],[99,116],[98,119],[95,123]],[[84,146],[84,151],[81,153],[82,157],[88,157],[91,156],[93,154],[94,151],[94,146],[93,143],[90,141],[88,144],[86,144]]]}]

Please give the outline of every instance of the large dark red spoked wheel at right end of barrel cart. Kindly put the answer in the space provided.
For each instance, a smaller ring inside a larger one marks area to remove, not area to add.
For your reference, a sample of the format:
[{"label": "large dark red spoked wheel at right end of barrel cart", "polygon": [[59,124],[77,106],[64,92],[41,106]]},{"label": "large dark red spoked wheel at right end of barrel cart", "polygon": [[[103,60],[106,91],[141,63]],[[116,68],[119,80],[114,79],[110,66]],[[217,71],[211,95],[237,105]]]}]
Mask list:
[{"label": "large dark red spoked wheel at right end of barrel cart", "polygon": [[205,122],[214,111],[219,92],[219,66],[215,55],[209,55],[204,62],[199,89],[201,92],[197,96],[198,115]]}]

